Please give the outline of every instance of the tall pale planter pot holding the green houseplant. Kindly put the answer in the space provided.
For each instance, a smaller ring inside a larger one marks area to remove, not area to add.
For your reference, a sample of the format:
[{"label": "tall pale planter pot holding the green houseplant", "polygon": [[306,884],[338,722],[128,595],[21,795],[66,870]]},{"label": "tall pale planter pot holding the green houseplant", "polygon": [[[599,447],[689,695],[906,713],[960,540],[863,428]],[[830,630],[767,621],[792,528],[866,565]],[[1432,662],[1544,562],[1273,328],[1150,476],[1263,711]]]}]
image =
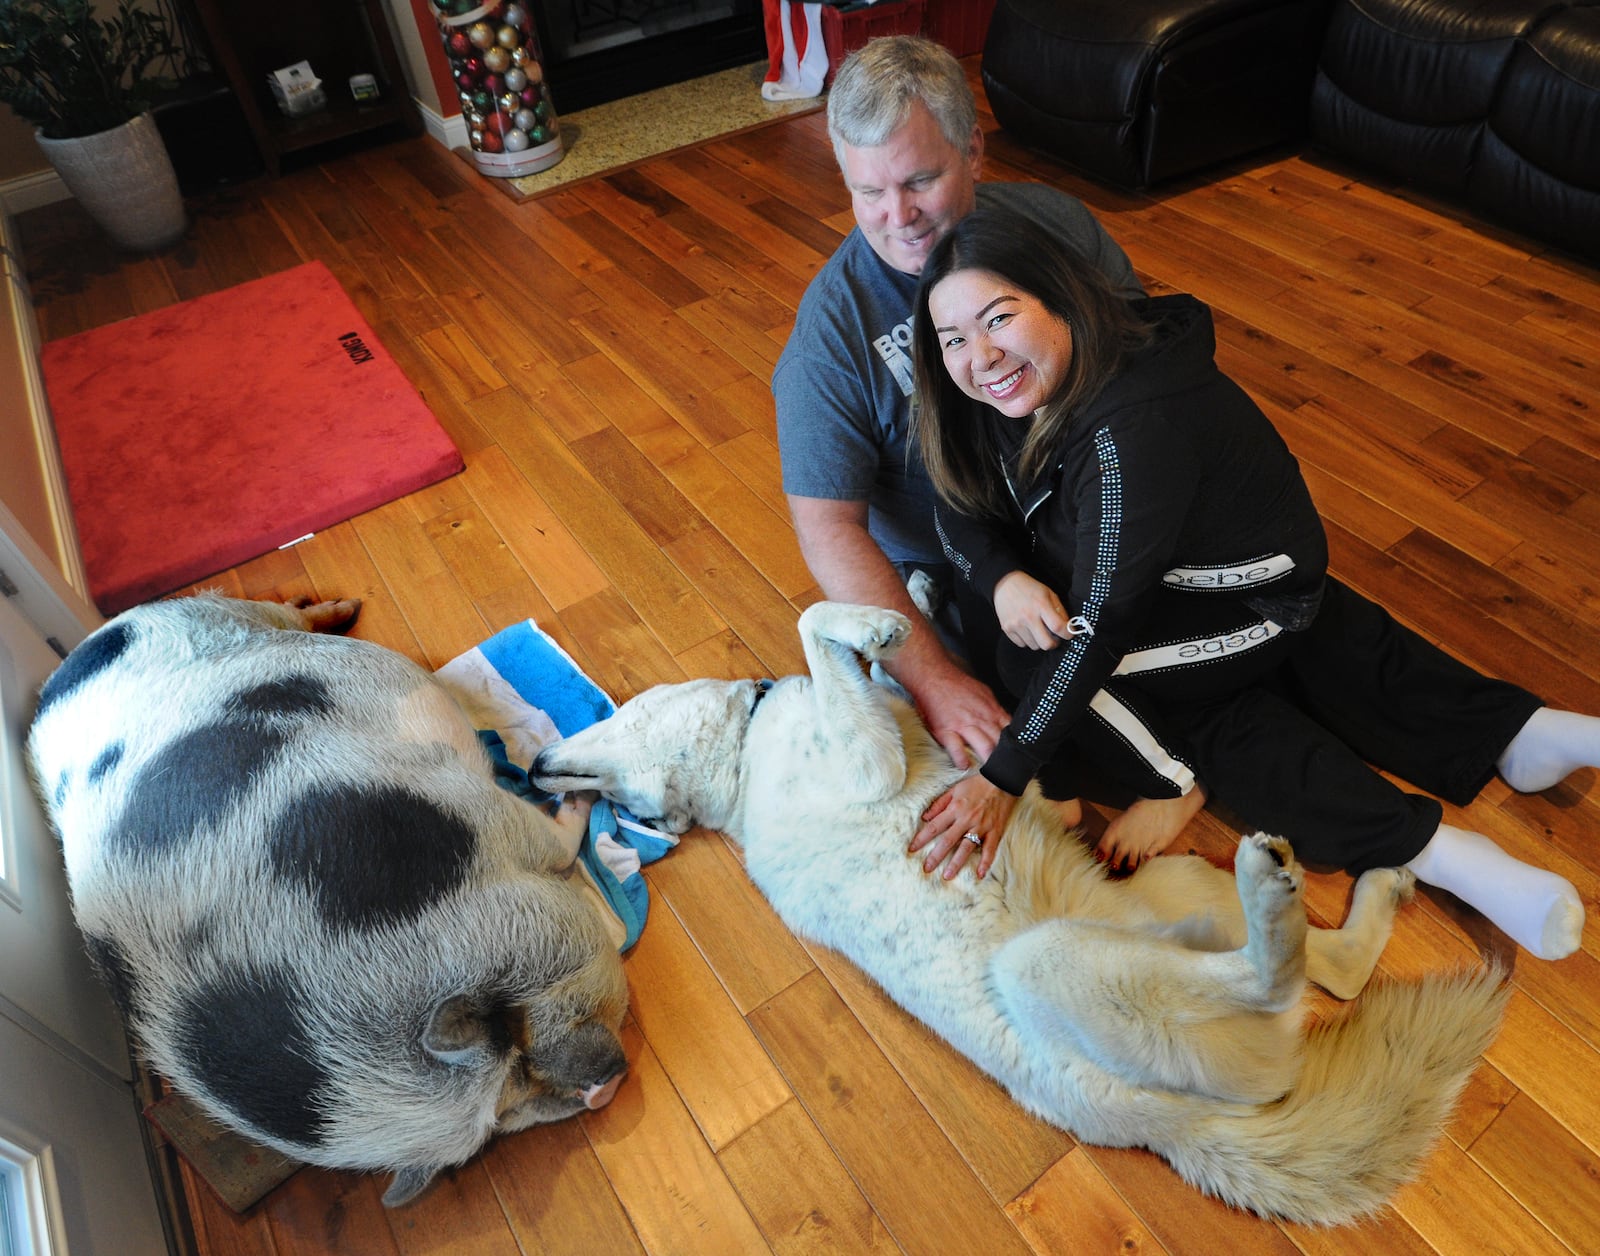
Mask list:
[{"label": "tall pale planter pot holding the green houseplant", "polygon": [[118,248],[155,253],[178,243],[189,219],[173,158],[149,114],[77,139],[34,133],[67,190]]}]

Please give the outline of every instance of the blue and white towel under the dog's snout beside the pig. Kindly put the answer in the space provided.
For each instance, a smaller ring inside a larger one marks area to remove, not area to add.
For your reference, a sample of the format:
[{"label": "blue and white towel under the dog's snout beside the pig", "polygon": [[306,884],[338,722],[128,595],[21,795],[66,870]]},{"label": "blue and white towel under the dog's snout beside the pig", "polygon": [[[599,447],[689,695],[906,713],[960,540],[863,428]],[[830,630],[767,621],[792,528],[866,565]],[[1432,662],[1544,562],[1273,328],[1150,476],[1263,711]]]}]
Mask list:
[{"label": "blue and white towel under the dog's snout beside the pig", "polygon": [[[477,726],[494,762],[494,779],[531,806],[554,803],[528,778],[534,755],[616,710],[605,691],[531,619],[496,632],[435,675]],[[677,842],[603,798],[590,811],[573,870],[597,898],[619,950],[638,941],[650,912],[650,888],[640,866],[654,862]]]}]

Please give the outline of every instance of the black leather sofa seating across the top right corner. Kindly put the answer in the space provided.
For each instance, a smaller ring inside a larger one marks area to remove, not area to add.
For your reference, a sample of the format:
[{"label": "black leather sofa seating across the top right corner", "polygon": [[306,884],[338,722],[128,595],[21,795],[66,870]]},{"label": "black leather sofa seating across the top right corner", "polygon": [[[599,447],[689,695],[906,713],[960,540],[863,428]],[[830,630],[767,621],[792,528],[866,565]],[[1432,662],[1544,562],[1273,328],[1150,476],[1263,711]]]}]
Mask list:
[{"label": "black leather sofa seating across the top right corner", "polygon": [[1309,136],[1600,259],[1600,0],[997,0],[982,78],[1117,187]]}]

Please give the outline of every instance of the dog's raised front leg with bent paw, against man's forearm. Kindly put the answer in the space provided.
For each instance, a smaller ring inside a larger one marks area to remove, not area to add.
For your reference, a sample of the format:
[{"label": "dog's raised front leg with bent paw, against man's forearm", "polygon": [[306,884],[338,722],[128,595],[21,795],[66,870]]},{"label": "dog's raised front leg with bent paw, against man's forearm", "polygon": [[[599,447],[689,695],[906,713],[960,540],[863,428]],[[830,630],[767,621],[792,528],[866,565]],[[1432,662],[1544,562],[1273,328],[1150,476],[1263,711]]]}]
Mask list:
[{"label": "dog's raised front leg with bent paw, against man's forearm", "polygon": [[862,659],[891,658],[910,630],[910,619],[880,606],[818,602],[800,616],[818,739],[835,760],[832,779],[850,790],[851,802],[886,798],[906,786],[899,723]]}]

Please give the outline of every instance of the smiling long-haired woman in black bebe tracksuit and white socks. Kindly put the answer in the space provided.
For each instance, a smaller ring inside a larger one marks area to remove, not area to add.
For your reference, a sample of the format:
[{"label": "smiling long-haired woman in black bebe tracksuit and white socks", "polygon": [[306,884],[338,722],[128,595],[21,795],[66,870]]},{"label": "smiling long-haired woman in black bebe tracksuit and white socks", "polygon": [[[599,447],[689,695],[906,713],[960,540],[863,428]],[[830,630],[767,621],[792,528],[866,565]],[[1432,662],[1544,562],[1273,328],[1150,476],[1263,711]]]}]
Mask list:
[{"label": "smiling long-haired woman in black bebe tracksuit and white socks", "polygon": [[1088,774],[1144,797],[1198,778],[1306,862],[1411,867],[1534,954],[1570,954],[1566,880],[1442,824],[1368,760],[1466,805],[1496,771],[1546,789],[1600,762],[1600,720],[1474,672],[1328,576],[1299,464],[1214,349],[1192,296],[1128,301],[1002,210],[930,254],[918,448],[973,666],[1014,715],[912,850],[954,875],[981,848],[982,875],[1030,779],[1062,800]]}]

